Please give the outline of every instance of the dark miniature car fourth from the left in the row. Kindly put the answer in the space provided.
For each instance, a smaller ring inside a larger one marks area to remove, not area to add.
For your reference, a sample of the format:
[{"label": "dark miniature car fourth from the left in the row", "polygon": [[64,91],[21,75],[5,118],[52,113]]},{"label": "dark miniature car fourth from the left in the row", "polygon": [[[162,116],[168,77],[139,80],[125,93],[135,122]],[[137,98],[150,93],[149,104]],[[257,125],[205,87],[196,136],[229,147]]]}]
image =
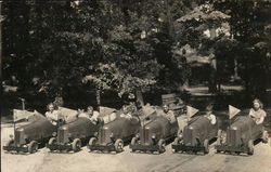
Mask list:
[{"label": "dark miniature car fourth from the left in the row", "polygon": [[166,142],[177,135],[179,129],[177,120],[170,122],[157,110],[155,113],[156,116],[150,116],[151,118],[142,124],[140,133],[131,140],[130,148],[132,151],[164,153]]}]

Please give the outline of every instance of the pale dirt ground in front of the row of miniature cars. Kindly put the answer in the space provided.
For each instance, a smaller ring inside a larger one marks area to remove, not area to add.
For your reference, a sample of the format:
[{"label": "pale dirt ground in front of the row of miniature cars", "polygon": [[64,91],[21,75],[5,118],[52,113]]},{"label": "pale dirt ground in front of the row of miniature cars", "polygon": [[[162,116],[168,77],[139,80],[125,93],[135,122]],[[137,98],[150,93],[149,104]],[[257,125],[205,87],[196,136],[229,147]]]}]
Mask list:
[{"label": "pale dirt ground in front of the row of miniature cars", "polygon": [[167,145],[162,155],[132,154],[128,146],[125,151],[93,154],[87,147],[76,154],[51,154],[47,148],[33,155],[12,155],[2,150],[11,124],[1,124],[1,171],[2,172],[270,172],[271,140],[268,144],[255,146],[254,156],[216,154],[214,144],[205,156],[172,154]]}]

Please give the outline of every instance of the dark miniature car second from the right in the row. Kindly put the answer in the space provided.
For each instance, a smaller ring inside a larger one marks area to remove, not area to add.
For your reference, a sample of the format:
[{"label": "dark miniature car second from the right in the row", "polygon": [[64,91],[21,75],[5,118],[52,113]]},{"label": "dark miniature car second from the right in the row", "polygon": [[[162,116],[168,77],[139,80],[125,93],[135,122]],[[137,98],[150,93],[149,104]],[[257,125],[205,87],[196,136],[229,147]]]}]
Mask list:
[{"label": "dark miniature car second from the right in the row", "polygon": [[203,151],[209,153],[209,143],[216,138],[219,130],[220,121],[211,124],[210,120],[205,116],[193,117],[188,125],[184,127],[182,134],[178,135],[172,143],[172,150],[178,151]]}]

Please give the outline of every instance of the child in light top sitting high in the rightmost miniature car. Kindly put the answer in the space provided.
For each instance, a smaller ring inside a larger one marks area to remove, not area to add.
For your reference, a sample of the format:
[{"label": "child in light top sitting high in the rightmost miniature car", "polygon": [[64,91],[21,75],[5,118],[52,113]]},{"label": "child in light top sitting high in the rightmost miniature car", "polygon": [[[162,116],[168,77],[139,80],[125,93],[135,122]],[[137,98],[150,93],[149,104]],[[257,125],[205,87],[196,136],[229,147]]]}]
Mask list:
[{"label": "child in light top sitting high in the rightmost miniature car", "polygon": [[267,116],[262,107],[263,105],[260,100],[253,101],[253,108],[250,108],[248,116],[254,119],[256,124],[261,124]]}]

